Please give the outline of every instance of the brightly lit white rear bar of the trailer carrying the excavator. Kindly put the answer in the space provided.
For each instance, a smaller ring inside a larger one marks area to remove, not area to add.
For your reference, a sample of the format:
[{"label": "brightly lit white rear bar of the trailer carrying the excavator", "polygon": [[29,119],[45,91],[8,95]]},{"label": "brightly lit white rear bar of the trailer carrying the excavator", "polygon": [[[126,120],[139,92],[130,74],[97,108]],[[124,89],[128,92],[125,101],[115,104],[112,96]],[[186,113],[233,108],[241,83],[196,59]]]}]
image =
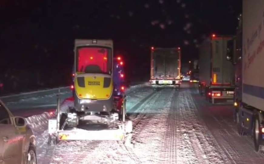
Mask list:
[{"label": "brightly lit white rear bar of the trailer carrying the excavator", "polygon": [[123,141],[126,135],[120,129],[65,130],[58,132],[58,140],[113,140]]}]

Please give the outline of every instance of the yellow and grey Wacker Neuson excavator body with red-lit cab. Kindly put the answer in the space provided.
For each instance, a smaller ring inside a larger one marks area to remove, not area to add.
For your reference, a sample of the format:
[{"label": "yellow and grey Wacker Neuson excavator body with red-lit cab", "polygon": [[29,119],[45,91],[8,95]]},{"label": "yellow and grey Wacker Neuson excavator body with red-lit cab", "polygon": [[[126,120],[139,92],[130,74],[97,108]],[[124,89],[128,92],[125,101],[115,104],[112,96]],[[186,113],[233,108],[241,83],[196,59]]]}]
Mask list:
[{"label": "yellow and grey Wacker Neuson excavator body with red-lit cab", "polygon": [[110,112],[113,92],[112,40],[75,40],[75,108]]}]

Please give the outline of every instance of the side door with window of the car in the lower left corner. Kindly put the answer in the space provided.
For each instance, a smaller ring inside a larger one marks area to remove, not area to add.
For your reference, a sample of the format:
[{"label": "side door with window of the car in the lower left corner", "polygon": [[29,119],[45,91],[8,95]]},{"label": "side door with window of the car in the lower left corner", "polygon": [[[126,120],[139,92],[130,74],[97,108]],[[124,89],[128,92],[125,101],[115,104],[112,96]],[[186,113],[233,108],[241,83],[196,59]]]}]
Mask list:
[{"label": "side door with window of the car in the lower left corner", "polygon": [[5,164],[21,163],[22,137],[12,124],[8,110],[0,102],[0,144],[2,162]]}]

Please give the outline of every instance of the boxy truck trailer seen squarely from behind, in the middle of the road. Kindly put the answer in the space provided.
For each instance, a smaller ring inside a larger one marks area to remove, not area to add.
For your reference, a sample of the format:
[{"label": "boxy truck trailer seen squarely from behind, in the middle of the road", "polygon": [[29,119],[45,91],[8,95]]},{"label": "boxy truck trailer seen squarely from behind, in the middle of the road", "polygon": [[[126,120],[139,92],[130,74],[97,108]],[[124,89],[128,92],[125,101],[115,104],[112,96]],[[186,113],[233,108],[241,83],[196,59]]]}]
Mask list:
[{"label": "boxy truck trailer seen squarely from behind, in the middle of the road", "polygon": [[150,81],[152,86],[181,84],[181,49],[151,48]]}]

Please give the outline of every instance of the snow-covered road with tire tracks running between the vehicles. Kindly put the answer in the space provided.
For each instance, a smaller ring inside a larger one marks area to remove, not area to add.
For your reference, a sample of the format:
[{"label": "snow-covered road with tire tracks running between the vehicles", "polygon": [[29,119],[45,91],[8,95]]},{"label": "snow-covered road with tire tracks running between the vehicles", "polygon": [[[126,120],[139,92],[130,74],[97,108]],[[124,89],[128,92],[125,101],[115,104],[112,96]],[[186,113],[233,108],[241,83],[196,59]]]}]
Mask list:
[{"label": "snow-covered road with tire tracks running between the vehicles", "polygon": [[[64,97],[68,95],[70,92],[64,93]],[[48,104],[48,97],[52,99],[51,104],[55,102],[56,96],[53,94],[42,95],[38,98],[38,105]],[[38,163],[192,164],[264,161],[264,154],[254,151],[250,136],[241,137],[237,134],[232,120],[232,106],[209,104],[193,85],[184,83],[180,89],[155,90],[142,85],[129,90],[127,99],[127,110],[134,128],[131,147],[116,141],[71,141],[48,146],[46,119],[51,117],[50,114],[44,114],[42,121],[36,116],[29,117],[29,122],[39,122],[32,126],[38,139]],[[33,100],[28,98],[27,104],[31,102]],[[12,104],[18,102],[9,102],[9,105]],[[16,108],[15,111],[18,110]]]}]

